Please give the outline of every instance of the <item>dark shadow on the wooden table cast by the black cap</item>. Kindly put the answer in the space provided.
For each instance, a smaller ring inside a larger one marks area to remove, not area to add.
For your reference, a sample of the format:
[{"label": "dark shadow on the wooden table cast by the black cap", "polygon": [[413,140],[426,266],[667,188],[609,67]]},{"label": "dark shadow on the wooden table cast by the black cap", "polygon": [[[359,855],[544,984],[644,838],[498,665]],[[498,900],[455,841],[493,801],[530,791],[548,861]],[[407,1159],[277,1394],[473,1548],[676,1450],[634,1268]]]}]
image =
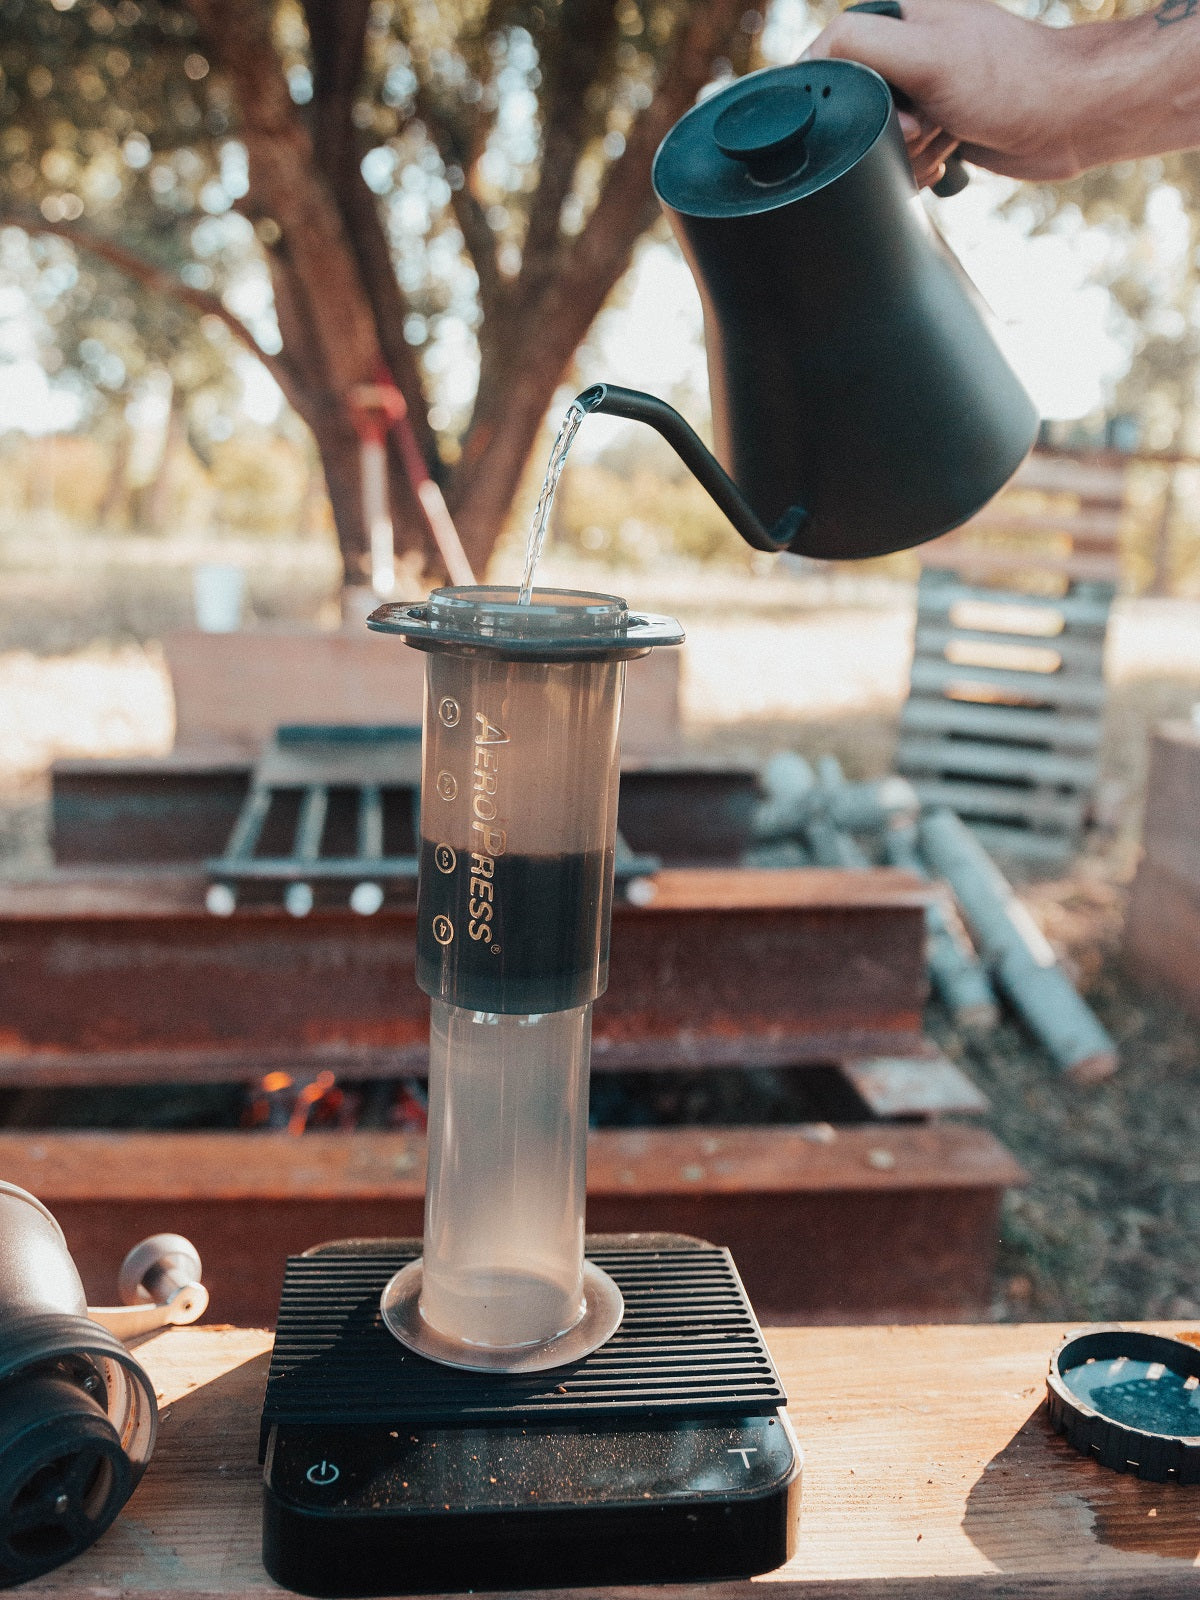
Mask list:
[{"label": "dark shadow on the wooden table cast by the black cap", "polygon": [[[1195,1581],[1200,1491],[1142,1483],[1088,1461],[1053,1430],[1042,1403],[984,1467],[966,1499],[963,1531],[1002,1571],[1112,1570],[1120,1563],[1106,1560],[1107,1550],[1120,1550],[1187,1563]],[[1138,1563],[1130,1565],[1136,1571]],[[1170,1566],[1162,1571],[1171,1574]],[[1134,1573],[1131,1581],[1139,1582]],[[1147,1595],[1163,1592],[1155,1582]]]}]

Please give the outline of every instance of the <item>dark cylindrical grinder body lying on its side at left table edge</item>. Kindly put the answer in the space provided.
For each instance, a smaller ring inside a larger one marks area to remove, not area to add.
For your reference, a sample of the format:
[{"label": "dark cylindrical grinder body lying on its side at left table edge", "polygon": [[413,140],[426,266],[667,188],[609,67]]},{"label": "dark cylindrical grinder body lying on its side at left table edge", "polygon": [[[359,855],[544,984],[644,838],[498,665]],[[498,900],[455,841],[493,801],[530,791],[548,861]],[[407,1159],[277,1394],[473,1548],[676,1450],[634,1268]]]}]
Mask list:
[{"label": "dark cylindrical grinder body lying on its side at left table edge", "polygon": [[150,1379],[86,1315],[58,1222],[0,1182],[0,1587],[94,1544],[136,1488],[157,1419]]}]

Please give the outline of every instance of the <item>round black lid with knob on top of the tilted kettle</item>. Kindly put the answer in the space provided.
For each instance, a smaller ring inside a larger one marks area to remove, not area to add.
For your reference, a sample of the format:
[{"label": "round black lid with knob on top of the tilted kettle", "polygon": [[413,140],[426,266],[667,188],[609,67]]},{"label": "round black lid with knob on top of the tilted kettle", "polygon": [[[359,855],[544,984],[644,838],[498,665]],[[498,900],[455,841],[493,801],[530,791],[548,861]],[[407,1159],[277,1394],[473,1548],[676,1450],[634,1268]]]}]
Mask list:
[{"label": "round black lid with knob on top of the tilted kettle", "polygon": [[890,115],[891,93],[870,67],[766,67],[680,117],[654,157],[654,192],[683,216],[773,211],[850,171]]}]

